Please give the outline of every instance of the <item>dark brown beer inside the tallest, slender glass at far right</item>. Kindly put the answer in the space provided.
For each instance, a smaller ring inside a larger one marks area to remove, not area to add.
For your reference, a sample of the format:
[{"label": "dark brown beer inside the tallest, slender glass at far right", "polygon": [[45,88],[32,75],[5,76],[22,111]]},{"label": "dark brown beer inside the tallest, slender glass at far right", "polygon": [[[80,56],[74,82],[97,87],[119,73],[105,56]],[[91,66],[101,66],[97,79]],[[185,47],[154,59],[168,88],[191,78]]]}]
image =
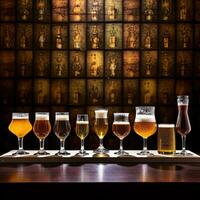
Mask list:
[{"label": "dark brown beer inside the tallest, slender glass at far right", "polygon": [[188,105],[178,105],[178,118],[176,122],[176,131],[182,136],[187,135],[191,131],[190,120],[188,116]]}]

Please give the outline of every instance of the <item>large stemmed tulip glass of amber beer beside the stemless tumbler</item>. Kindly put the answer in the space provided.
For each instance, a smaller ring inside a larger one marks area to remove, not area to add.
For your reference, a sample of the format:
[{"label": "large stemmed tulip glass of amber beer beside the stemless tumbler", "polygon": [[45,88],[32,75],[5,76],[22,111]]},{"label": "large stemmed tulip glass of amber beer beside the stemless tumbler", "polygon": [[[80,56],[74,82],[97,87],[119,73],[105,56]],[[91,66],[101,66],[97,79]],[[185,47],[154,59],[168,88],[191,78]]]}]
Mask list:
[{"label": "large stemmed tulip glass of amber beer beside the stemless tumbler", "polygon": [[147,138],[153,135],[157,130],[154,106],[136,107],[136,116],[134,122],[135,132],[143,138],[143,150],[138,155],[150,155],[147,150]]}]

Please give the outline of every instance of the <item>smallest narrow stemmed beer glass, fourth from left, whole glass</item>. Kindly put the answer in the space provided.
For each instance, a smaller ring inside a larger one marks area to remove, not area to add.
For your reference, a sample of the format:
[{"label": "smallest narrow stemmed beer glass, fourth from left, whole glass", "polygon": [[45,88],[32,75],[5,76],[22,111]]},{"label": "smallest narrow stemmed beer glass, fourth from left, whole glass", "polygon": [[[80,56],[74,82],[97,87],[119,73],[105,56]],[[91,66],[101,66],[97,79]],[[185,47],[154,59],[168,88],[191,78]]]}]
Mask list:
[{"label": "smallest narrow stemmed beer glass, fourth from left, whole glass", "polygon": [[80,156],[88,155],[84,148],[84,140],[89,133],[89,121],[87,114],[78,114],[76,120],[76,135],[81,140],[81,149],[78,153]]}]

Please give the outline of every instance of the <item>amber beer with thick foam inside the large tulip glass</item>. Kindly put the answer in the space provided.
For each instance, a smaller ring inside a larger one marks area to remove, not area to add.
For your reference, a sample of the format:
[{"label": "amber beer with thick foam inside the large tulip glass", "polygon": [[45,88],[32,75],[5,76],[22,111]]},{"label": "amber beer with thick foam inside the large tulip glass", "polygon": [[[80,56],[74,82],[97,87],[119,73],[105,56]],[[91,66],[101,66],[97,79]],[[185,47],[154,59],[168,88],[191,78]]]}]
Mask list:
[{"label": "amber beer with thick foam inside the large tulip glass", "polygon": [[157,125],[155,117],[151,115],[140,115],[135,119],[134,130],[141,137],[147,139],[156,132]]}]

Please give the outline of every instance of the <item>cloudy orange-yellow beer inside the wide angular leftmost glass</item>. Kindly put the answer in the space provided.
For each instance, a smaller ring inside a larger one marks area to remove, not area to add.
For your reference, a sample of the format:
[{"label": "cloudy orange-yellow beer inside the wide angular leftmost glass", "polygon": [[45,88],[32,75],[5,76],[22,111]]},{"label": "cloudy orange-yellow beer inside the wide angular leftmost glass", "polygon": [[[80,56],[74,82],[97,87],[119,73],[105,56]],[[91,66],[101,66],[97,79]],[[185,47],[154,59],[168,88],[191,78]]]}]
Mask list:
[{"label": "cloudy orange-yellow beer inside the wide angular leftmost glass", "polygon": [[23,138],[32,130],[29,119],[12,119],[8,129],[18,138]]}]

